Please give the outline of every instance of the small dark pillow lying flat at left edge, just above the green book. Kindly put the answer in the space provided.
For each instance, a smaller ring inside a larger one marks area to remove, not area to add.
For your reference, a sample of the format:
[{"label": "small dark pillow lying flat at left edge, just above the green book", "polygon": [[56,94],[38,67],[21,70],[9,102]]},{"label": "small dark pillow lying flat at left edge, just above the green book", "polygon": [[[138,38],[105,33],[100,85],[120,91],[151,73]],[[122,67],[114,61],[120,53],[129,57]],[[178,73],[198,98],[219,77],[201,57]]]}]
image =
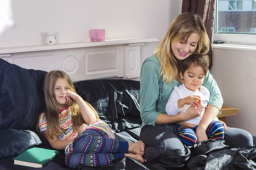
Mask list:
[{"label": "small dark pillow lying flat at left edge, just above the green book", "polygon": [[41,144],[40,138],[30,130],[0,130],[0,159],[16,156]]}]

